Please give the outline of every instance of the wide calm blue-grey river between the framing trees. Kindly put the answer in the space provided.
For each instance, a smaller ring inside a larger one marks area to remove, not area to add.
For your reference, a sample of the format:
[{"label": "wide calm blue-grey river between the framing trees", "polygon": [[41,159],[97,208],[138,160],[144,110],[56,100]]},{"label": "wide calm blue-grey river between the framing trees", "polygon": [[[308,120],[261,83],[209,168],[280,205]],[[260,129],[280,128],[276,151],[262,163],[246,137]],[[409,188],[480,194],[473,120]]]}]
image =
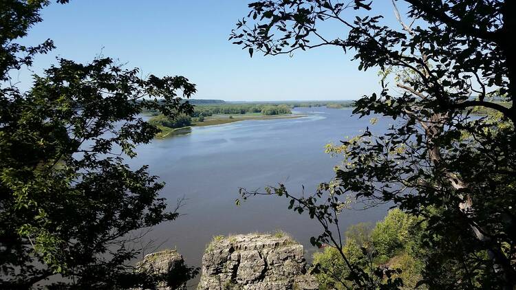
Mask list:
[{"label": "wide calm blue-grey river between the framing trees", "polygon": [[[301,193],[301,186],[313,192],[319,183],[332,179],[333,166],[341,162],[324,153],[325,144],[358,135],[366,126],[383,132],[391,120],[380,119],[372,126],[369,118],[352,116],[351,109],[294,111],[307,116],[194,127],[189,135],[140,146],[129,164],[148,164],[150,172],[166,182],[161,195],[171,209],[177,199],[186,198],[179,219],[148,235],[156,245],[177,247],[186,263],[200,266],[204,248],[215,235],[283,230],[305,245],[310,258],[315,250],[310,236],[321,232],[316,221],[288,210],[283,197],[253,197],[237,206],[238,189],[263,191],[264,186],[285,183],[290,193]],[[385,207],[345,211],[341,226],[374,223],[386,212]]]}]

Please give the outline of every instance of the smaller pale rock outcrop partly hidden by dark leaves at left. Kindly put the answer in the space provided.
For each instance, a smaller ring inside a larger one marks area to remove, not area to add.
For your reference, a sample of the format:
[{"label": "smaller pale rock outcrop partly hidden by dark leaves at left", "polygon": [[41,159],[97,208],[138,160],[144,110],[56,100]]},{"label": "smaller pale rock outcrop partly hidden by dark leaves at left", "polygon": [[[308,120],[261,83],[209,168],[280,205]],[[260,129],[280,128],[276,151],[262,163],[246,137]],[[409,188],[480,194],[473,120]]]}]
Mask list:
[{"label": "smaller pale rock outcrop partly hidden by dark leaves at left", "polygon": [[[147,271],[166,277],[173,273],[175,267],[183,263],[183,256],[175,249],[166,249],[146,255],[139,267],[140,271]],[[167,287],[166,282],[161,282],[158,287],[163,290],[186,290],[186,284],[179,285],[178,287]]]}]

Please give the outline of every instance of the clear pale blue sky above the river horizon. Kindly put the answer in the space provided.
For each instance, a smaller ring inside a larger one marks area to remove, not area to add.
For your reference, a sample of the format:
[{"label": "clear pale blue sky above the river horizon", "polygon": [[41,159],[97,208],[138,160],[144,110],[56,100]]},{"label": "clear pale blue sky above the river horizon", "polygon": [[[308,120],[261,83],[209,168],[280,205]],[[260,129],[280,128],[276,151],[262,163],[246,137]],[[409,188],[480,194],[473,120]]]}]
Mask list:
[{"label": "clear pale blue sky above the river horizon", "polygon": [[[185,76],[197,85],[194,98],[228,101],[355,100],[378,92],[378,70],[358,71],[358,61],[338,47],[296,52],[292,57],[250,58],[228,41],[238,19],[248,13],[244,0],[72,0],[52,1],[22,43],[50,38],[56,49],[38,56],[32,71],[15,80],[30,85],[56,56],[81,63],[98,54],[139,67],[143,74]],[[391,1],[377,0],[374,13],[396,25]],[[353,10],[348,16],[354,17]],[[341,25],[325,23],[327,35],[344,36]]]}]

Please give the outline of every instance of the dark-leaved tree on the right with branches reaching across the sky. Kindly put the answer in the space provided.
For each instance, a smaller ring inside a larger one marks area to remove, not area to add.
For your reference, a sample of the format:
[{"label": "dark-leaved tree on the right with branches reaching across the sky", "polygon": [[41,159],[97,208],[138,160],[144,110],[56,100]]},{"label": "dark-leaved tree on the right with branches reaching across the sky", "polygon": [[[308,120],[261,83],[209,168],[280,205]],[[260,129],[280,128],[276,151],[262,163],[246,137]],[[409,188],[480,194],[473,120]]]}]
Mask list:
[{"label": "dark-leaved tree on the right with branches reaching across the sky", "polygon": [[[257,1],[231,38],[252,56],[333,46],[354,52],[358,69],[378,68],[382,90],[356,102],[354,113],[396,120],[383,135],[369,129],[330,151],[343,154],[331,183],[310,197],[282,185],[268,193],[291,199],[323,226],[314,244],[342,248],[338,213],[345,197],[395,203],[424,219],[422,240],[433,256],[420,283],[455,289],[516,286],[516,32],[515,1],[405,0],[400,29],[370,15],[373,3]],[[356,11],[353,15],[352,11]],[[356,16],[356,17],[352,17]],[[345,38],[319,31],[343,25]],[[394,85],[391,85],[394,83]],[[471,118],[476,107],[493,115]],[[244,198],[259,192],[241,190]],[[380,287],[349,263],[358,287]],[[380,274],[384,275],[384,274]],[[447,278],[444,278],[446,276]],[[397,287],[396,285],[390,285]]]}]

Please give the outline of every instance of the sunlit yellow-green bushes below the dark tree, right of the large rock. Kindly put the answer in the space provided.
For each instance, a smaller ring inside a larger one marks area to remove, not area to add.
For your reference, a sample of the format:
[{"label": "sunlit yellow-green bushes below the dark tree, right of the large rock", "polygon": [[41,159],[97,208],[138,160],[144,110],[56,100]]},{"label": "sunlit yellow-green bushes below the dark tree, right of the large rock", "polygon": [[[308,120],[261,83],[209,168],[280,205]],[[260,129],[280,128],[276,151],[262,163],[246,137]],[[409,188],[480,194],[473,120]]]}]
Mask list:
[{"label": "sunlit yellow-green bushes below the dark tree, right of the large rock", "polygon": [[[364,223],[352,225],[345,232],[342,250],[350,263],[359,265],[363,271],[374,271],[377,267],[396,269],[391,277],[402,278],[404,285],[400,289],[415,289],[422,278],[425,260],[425,250],[420,247],[424,226],[416,216],[390,210],[374,228]],[[314,253],[313,264],[319,270],[316,271],[319,289],[352,287],[352,282],[346,280],[350,270],[335,247]]]}]

